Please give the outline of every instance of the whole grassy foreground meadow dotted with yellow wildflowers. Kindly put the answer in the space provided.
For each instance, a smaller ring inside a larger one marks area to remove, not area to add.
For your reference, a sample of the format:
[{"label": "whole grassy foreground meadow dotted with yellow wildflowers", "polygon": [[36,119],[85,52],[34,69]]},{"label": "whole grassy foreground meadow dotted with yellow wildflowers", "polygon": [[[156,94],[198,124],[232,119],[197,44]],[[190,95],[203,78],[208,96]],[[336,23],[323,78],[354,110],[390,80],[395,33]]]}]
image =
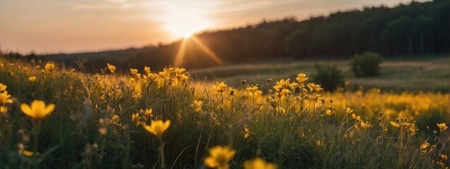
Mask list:
[{"label": "whole grassy foreground meadow dotted with yellow wildflowers", "polygon": [[449,94],[324,93],[303,73],[232,89],[84,62],[1,61],[0,168],[448,166]]}]

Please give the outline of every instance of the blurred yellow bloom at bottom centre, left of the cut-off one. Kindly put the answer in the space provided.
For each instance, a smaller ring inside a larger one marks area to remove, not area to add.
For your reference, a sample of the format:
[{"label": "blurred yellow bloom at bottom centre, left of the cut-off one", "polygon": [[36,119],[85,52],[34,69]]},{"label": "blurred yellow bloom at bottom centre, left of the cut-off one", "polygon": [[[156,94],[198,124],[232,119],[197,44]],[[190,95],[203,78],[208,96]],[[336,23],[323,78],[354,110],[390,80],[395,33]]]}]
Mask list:
[{"label": "blurred yellow bloom at bottom centre, left of the cut-off one", "polygon": [[228,161],[235,156],[236,151],[228,146],[214,146],[209,149],[209,156],[205,158],[205,165],[209,168],[228,168]]}]

